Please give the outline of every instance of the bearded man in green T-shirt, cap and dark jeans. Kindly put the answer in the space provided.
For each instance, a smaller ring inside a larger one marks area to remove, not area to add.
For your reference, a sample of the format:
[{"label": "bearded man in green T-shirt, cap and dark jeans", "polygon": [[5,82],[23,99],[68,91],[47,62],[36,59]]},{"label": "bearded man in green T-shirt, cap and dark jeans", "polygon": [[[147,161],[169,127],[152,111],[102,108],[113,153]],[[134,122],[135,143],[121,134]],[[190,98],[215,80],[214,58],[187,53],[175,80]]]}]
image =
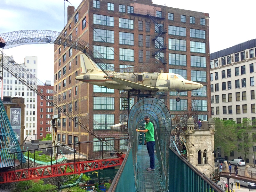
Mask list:
[{"label": "bearded man in green T-shirt, cap and dark jeans", "polygon": [[144,132],[146,133],[146,145],[148,149],[148,155],[149,155],[149,163],[150,167],[148,167],[147,171],[154,171],[155,170],[155,152],[154,152],[154,146],[155,146],[155,139],[154,139],[154,125],[149,121],[149,116],[146,115],[144,117],[144,120],[146,122],[145,124],[145,130],[139,130],[136,129],[137,132]]}]

